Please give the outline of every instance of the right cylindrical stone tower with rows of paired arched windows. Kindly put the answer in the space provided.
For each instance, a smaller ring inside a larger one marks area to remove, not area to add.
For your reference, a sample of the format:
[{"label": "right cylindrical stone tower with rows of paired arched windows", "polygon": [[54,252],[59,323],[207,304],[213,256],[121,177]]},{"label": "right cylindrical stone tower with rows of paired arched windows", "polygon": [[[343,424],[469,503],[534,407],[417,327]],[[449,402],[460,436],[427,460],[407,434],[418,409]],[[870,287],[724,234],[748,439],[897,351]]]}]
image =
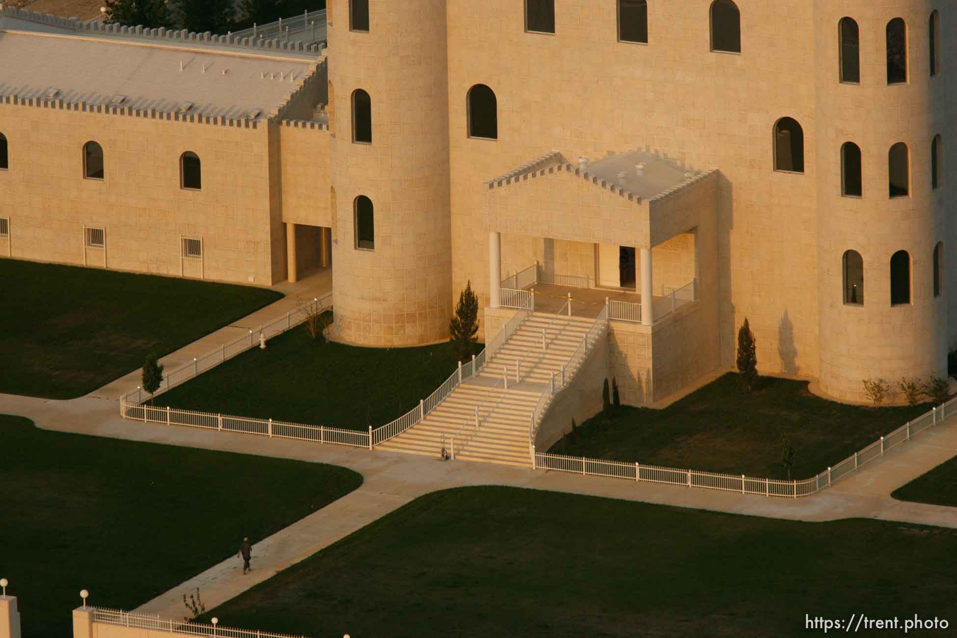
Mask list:
[{"label": "right cylindrical stone tower with rows of paired arched windows", "polygon": [[820,386],[841,400],[866,401],[864,379],[946,377],[957,68],[950,38],[931,43],[933,4],[815,0]]}]

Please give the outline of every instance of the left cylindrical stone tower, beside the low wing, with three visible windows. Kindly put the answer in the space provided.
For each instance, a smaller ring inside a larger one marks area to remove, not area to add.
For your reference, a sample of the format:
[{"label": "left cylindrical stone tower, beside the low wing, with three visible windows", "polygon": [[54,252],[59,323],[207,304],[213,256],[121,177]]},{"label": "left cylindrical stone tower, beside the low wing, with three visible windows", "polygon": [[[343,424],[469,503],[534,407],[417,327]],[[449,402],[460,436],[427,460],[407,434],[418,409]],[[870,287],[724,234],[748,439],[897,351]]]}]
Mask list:
[{"label": "left cylindrical stone tower, beside the low wing, with three visible windows", "polygon": [[383,346],[445,339],[452,312],[445,0],[328,4],[339,338]]}]

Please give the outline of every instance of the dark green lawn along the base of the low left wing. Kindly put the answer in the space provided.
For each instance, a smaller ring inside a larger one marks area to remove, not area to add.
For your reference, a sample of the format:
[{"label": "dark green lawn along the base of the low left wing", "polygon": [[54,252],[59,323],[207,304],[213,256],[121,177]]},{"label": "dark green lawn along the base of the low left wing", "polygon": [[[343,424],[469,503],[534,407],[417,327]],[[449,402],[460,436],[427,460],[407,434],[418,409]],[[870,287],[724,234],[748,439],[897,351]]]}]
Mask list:
[{"label": "dark green lawn along the base of the low left wing", "polygon": [[282,297],[248,286],[0,259],[0,392],[72,399]]}]

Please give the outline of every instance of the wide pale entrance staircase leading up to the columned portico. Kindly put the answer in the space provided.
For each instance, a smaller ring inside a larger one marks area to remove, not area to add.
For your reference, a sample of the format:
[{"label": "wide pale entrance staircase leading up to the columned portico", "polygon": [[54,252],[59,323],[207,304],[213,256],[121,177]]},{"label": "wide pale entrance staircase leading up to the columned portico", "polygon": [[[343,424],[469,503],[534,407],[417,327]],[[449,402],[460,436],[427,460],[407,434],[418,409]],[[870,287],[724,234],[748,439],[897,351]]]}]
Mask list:
[{"label": "wide pale entrance staircase leading up to the columned portico", "polygon": [[[558,383],[562,365],[593,321],[532,314],[478,375],[463,381],[422,421],[376,446],[376,450],[438,457],[444,446],[446,451],[455,452],[456,459],[530,465],[528,428],[535,406],[546,384],[551,383],[552,373]],[[508,389],[504,388],[506,369]],[[566,374],[574,372],[567,370]]]}]

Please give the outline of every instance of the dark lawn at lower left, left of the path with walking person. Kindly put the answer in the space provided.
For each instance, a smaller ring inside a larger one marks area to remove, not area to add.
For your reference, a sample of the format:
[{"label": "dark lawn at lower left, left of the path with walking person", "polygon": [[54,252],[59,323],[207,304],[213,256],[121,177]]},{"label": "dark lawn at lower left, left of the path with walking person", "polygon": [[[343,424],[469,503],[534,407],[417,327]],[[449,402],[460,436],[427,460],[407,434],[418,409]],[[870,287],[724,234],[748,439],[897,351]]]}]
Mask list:
[{"label": "dark lawn at lower left, left of the path with walking person", "polygon": [[68,636],[80,589],[94,605],[142,605],[233,556],[244,536],[256,543],[361,484],[345,468],[0,415],[0,577],[24,638]]}]

